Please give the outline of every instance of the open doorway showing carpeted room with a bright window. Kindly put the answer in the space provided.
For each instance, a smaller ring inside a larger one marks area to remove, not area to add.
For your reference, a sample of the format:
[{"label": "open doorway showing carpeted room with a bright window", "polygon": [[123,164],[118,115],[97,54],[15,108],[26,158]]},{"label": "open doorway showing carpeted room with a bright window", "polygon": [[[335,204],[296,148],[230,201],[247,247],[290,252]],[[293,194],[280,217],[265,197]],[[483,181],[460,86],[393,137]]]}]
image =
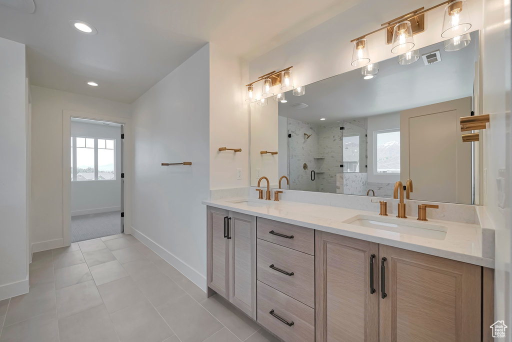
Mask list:
[{"label": "open doorway showing carpeted room with a bright window", "polygon": [[124,124],[70,118],[70,242],[124,231]]}]

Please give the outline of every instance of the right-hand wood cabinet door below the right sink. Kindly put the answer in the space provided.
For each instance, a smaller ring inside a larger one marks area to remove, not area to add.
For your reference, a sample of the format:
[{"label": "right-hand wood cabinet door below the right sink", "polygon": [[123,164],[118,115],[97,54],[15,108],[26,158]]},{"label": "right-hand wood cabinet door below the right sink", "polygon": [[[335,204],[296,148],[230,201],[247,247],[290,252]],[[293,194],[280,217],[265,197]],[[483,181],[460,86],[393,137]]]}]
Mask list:
[{"label": "right-hand wood cabinet door below the right sink", "polygon": [[481,267],[385,245],[379,258],[380,342],[481,340]]}]

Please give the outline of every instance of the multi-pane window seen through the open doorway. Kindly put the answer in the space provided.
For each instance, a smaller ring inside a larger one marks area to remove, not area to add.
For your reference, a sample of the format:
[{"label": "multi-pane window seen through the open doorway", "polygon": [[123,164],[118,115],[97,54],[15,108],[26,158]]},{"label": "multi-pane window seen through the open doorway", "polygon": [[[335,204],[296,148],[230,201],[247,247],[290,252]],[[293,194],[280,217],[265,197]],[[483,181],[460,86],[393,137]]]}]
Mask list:
[{"label": "multi-pane window seen through the open doorway", "polygon": [[71,180],[115,180],[115,140],[71,137]]}]

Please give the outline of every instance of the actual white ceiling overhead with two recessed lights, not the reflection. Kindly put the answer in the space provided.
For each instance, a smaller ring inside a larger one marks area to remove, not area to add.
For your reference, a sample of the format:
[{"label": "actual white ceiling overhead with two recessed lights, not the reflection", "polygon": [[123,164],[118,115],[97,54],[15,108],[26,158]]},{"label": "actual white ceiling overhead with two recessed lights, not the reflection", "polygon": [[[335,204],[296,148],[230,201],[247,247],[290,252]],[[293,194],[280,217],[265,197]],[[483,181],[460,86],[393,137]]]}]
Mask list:
[{"label": "actual white ceiling overhead with two recessed lights, not the reflection", "polygon": [[33,14],[0,3],[0,36],[27,45],[32,84],[132,103],[206,42],[255,57],[359,2],[35,0]]}]

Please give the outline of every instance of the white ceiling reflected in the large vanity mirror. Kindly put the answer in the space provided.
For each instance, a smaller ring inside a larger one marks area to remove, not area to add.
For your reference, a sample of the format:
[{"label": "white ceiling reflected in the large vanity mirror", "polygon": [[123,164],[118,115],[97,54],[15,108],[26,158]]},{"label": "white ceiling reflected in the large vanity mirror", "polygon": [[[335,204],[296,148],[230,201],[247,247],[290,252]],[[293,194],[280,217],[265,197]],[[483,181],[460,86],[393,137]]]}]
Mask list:
[{"label": "white ceiling reflected in the large vanity mirror", "polygon": [[[472,96],[478,31],[471,37],[471,44],[459,51],[445,52],[444,42],[420,49],[420,55],[440,50],[441,61],[431,65],[420,58],[402,66],[394,57],[379,62],[377,76],[369,80],[356,69],[306,86],[303,96],[286,92],[288,102],[279,103],[279,115],[328,124]],[[308,107],[294,109],[290,105],[295,103]]]}]

